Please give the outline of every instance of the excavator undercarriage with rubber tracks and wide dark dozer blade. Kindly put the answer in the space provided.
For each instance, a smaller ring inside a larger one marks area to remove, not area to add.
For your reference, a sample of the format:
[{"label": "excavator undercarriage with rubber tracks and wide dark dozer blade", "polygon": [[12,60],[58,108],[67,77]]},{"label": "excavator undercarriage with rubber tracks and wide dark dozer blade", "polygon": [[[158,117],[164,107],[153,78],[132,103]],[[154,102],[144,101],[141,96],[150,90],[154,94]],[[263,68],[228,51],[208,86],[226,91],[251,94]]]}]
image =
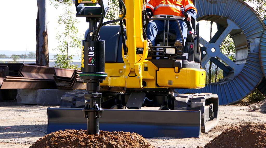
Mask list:
[{"label": "excavator undercarriage with rubber tracks and wide dark dozer blade", "polygon": [[[136,132],[143,137],[199,137],[218,122],[216,94],[177,94],[165,91],[102,91],[100,129]],[[61,98],[60,108],[48,108],[48,133],[86,129],[82,113],[86,90]],[[156,110],[155,110],[156,109]]]}]

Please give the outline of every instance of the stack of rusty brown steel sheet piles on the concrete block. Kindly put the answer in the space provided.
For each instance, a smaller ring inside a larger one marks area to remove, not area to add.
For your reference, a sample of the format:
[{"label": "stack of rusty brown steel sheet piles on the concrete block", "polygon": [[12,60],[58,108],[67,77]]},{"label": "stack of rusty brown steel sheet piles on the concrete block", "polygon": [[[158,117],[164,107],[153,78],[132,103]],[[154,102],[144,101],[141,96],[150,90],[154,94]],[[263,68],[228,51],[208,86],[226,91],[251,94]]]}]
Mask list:
[{"label": "stack of rusty brown steel sheet piles on the concrete block", "polygon": [[30,64],[1,64],[0,89],[86,89],[80,70]]}]

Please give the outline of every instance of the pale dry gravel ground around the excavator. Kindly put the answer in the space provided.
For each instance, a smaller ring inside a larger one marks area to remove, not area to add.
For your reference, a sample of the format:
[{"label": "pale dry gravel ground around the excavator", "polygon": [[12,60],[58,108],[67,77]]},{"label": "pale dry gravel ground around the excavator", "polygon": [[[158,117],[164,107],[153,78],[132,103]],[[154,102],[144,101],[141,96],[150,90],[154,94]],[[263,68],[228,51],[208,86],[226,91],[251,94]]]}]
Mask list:
[{"label": "pale dry gravel ground around the excavator", "polygon": [[[0,102],[0,147],[29,147],[46,134],[47,107],[18,105],[15,101]],[[232,125],[266,123],[263,110],[250,111],[248,106],[219,106],[218,125],[200,138],[148,138],[157,148],[196,148],[204,146],[215,136]]]}]

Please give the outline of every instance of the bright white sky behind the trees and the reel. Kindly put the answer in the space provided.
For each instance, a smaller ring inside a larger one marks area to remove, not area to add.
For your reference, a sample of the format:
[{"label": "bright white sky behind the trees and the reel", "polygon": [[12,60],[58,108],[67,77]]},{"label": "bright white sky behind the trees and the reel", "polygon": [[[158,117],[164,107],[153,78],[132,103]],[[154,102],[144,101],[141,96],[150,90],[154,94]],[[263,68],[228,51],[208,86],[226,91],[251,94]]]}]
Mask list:
[{"label": "bright white sky behind the trees and the reel", "polygon": [[[10,5],[5,5],[5,3],[0,5],[0,54],[1,50],[35,51],[37,18],[36,0],[13,0],[10,4],[12,7]],[[54,54],[57,53],[57,51],[54,51],[53,49],[55,49],[58,45],[56,34],[58,31],[62,31],[64,29],[57,24],[57,18],[61,13],[63,13],[63,7],[55,9],[52,5],[48,5],[47,11],[49,54]],[[75,13],[74,5],[73,12]],[[86,22],[85,18],[77,19],[80,21],[77,25],[79,33],[84,34],[89,27],[89,23]],[[201,22],[200,24],[200,35],[203,36],[205,40],[208,40],[210,35],[205,32],[209,32],[210,25],[207,22]],[[216,32],[215,27],[213,29],[214,34]],[[76,54],[77,50],[72,51],[72,53]]]}]

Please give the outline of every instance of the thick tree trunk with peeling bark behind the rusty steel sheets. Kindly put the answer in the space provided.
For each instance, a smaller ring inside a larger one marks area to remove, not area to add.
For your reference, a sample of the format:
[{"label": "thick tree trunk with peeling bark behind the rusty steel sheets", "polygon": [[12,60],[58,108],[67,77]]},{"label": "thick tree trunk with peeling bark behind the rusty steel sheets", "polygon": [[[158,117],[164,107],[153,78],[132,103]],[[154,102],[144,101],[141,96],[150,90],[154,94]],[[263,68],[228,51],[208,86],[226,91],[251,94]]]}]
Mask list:
[{"label": "thick tree trunk with peeling bark behind the rusty steel sheets", "polygon": [[48,33],[47,33],[47,0],[37,0],[36,19],[36,64],[49,66]]}]

